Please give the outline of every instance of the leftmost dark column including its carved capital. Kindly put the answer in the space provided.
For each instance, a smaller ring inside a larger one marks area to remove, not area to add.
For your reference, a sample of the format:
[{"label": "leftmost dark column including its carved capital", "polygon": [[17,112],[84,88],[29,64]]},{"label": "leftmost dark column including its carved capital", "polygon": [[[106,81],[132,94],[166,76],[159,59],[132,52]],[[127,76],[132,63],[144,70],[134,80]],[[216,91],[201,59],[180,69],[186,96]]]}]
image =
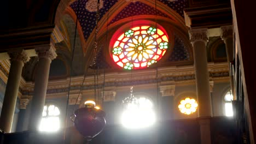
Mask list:
[{"label": "leftmost dark column including its carved capital", "polygon": [[7,81],[7,86],[4,93],[4,101],[0,118],[0,128],[6,133],[10,133],[11,124],[13,123],[13,116],[18,97],[20,78],[22,67],[28,61],[29,57],[25,51],[9,52],[10,56],[10,71]]}]

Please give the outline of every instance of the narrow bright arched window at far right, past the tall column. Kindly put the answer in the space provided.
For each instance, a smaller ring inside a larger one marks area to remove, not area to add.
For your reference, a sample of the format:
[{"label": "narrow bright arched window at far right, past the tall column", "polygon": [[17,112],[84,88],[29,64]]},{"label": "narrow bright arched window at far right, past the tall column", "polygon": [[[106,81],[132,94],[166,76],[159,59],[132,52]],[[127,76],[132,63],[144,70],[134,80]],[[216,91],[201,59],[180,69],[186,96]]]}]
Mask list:
[{"label": "narrow bright arched window at far right, past the tall column", "polygon": [[233,107],[232,107],[233,95],[231,92],[227,92],[224,96],[224,106],[225,106],[225,116],[233,116]]}]

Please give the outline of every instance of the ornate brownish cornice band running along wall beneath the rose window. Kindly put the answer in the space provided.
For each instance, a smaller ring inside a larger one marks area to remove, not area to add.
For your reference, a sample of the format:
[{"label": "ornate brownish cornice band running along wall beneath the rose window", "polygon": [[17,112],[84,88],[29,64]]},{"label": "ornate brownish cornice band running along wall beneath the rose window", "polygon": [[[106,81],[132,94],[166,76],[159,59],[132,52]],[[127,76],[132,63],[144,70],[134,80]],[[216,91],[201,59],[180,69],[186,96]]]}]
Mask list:
[{"label": "ornate brownish cornice band running along wall beneath the rose window", "polygon": [[[210,79],[212,81],[229,81],[228,63],[208,63],[208,71],[210,73]],[[147,69],[143,71],[136,71],[133,73],[131,80],[129,72],[123,73],[107,73],[106,80],[103,85],[103,75],[99,75],[98,88],[102,89],[105,86],[104,95],[114,95],[113,91],[116,89],[123,89],[123,87],[129,87],[131,85],[153,86],[156,83],[155,69]],[[160,87],[170,85],[191,85],[195,81],[195,69],[191,65],[183,67],[164,67],[158,69],[158,83]],[[80,89],[80,85],[83,82],[83,76],[72,77],[71,92],[76,93],[75,98]],[[94,89],[94,76],[90,75],[86,77],[86,82],[82,87],[82,91],[88,93]],[[68,79],[51,80],[48,83],[47,95],[48,97],[65,97],[68,92]],[[22,98],[24,95],[33,95],[34,83],[26,82],[21,88]],[[167,91],[165,92],[167,93]],[[168,92],[171,93],[171,92]],[[54,96],[55,95],[55,96]],[[165,94],[164,94],[165,95]],[[110,97],[110,96],[109,96]],[[70,97],[72,98],[72,97]],[[106,100],[108,98],[106,97]],[[110,98],[109,98],[110,99]],[[113,98],[111,98],[113,99]],[[72,99],[70,99],[71,103]]]}]

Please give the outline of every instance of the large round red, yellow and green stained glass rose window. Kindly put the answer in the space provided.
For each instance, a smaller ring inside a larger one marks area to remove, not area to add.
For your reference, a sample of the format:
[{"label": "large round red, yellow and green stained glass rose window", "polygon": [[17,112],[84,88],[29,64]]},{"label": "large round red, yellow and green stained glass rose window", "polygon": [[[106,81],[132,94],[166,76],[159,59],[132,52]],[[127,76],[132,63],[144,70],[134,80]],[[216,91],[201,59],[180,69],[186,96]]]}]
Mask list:
[{"label": "large round red, yellow and green stained glass rose window", "polygon": [[168,36],[164,29],[137,26],[120,34],[111,47],[112,58],[119,67],[147,68],[165,55]]}]

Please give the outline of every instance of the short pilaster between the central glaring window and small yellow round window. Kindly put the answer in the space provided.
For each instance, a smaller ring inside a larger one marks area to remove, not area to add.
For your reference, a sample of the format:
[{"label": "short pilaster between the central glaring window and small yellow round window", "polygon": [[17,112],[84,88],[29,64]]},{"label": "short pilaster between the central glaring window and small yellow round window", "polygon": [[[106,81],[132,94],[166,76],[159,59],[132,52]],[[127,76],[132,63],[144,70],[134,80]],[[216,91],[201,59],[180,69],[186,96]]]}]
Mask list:
[{"label": "short pilaster between the central glaring window and small yellow round window", "polygon": [[162,95],[161,103],[161,119],[162,121],[168,121],[173,119],[174,113],[174,93],[175,85],[160,86],[160,92]]}]

